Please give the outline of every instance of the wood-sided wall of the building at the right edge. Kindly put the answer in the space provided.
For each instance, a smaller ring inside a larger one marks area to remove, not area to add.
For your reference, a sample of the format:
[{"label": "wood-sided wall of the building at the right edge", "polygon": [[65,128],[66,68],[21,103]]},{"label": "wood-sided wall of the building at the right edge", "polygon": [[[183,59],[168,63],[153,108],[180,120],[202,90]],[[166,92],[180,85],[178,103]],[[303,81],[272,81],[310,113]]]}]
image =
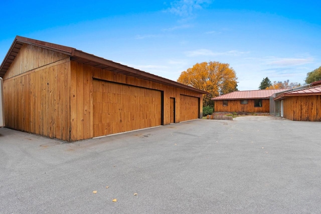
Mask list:
[{"label": "wood-sided wall of the building at the right edge", "polygon": [[283,117],[296,121],[321,121],[321,96],[295,96],[284,99]]}]

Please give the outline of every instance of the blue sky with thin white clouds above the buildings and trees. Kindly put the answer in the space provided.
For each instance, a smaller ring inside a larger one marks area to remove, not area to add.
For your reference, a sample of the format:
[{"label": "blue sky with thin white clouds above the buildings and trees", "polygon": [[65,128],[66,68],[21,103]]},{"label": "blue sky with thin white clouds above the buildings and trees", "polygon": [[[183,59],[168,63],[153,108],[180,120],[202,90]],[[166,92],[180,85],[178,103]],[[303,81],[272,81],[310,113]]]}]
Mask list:
[{"label": "blue sky with thin white clouds above the buildings and trees", "polygon": [[321,2],[267,0],[0,3],[0,61],[17,35],[82,50],[171,80],[228,63],[239,90],[304,83],[321,66]]}]

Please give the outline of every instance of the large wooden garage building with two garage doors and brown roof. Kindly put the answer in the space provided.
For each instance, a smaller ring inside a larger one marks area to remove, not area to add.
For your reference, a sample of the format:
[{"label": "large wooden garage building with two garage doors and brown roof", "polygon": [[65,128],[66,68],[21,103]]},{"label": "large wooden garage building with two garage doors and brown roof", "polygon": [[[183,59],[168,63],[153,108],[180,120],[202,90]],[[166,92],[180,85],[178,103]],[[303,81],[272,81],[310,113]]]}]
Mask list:
[{"label": "large wooden garage building with two garage doors and brown roof", "polygon": [[19,36],[0,77],[6,127],[65,141],[197,119],[207,94],[74,48]]}]

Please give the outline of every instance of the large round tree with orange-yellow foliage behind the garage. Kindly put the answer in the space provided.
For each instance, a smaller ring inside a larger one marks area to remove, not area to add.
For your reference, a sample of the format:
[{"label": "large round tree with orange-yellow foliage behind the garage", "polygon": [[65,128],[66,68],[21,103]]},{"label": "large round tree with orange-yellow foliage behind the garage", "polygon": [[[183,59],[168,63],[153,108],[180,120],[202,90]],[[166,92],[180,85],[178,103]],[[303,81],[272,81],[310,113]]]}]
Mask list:
[{"label": "large round tree with orange-yellow foliage behind the garage", "polygon": [[203,62],[183,71],[177,80],[179,83],[207,91],[203,106],[208,106],[213,97],[237,91],[237,77],[233,68],[227,63]]}]

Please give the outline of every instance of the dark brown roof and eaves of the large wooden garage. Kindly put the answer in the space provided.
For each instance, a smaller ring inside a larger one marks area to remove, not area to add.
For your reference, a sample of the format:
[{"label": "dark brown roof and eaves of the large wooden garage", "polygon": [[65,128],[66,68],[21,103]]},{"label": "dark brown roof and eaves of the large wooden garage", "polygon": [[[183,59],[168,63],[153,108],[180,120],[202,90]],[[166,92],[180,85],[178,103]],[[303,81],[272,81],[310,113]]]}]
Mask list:
[{"label": "dark brown roof and eaves of the large wooden garage", "polygon": [[48,42],[43,42],[43,41],[34,40],[34,39],[29,39],[29,38],[20,37],[20,36],[17,36],[15,38],[15,40],[14,40],[13,44],[11,45],[3,63],[0,66],[0,77],[5,76],[6,72],[8,71],[12,62],[15,60],[15,58],[18,55],[23,44],[29,44],[29,45],[37,46],[40,48],[63,53],[63,54],[70,56],[71,61],[76,61],[76,62],[85,64],[85,65],[90,65],[90,66],[100,68],[103,70],[108,70],[108,71],[112,71],[115,73],[120,73],[123,75],[131,76],[131,77],[135,77],[135,78],[139,78],[139,79],[143,79],[143,80],[147,80],[147,81],[151,81],[151,82],[155,82],[155,83],[160,83],[163,85],[181,88],[181,89],[197,92],[200,94],[209,94],[206,91],[202,91],[200,89],[193,88],[191,86],[187,86],[182,83],[178,83],[173,80],[159,77],[157,75],[150,74],[150,73],[147,73],[147,72],[135,69],[135,68],[131,68],[131,67],[122,65],[120,63],[106,60],[104,58],[85,53],[85,52],[77,50],[75,48],[57,45],[57,44],[48,43]]}]

